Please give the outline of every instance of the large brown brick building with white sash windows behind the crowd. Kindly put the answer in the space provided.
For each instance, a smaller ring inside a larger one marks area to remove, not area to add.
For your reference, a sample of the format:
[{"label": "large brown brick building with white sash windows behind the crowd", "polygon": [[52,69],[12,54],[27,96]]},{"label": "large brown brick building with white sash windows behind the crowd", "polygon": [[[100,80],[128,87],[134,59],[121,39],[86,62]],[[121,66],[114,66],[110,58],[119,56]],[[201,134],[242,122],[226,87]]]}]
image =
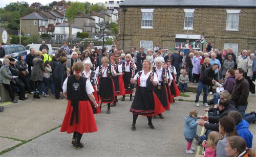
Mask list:
[{"label": "large brown brick building with white sash windows behind the crowd", "polygon": [[[203,33],[213,48],[254,51],[255,11],[255,0],[125,0],[119,10],[120,48],[185,47]],[[191,46],[200,49],[198,44]]]}]

